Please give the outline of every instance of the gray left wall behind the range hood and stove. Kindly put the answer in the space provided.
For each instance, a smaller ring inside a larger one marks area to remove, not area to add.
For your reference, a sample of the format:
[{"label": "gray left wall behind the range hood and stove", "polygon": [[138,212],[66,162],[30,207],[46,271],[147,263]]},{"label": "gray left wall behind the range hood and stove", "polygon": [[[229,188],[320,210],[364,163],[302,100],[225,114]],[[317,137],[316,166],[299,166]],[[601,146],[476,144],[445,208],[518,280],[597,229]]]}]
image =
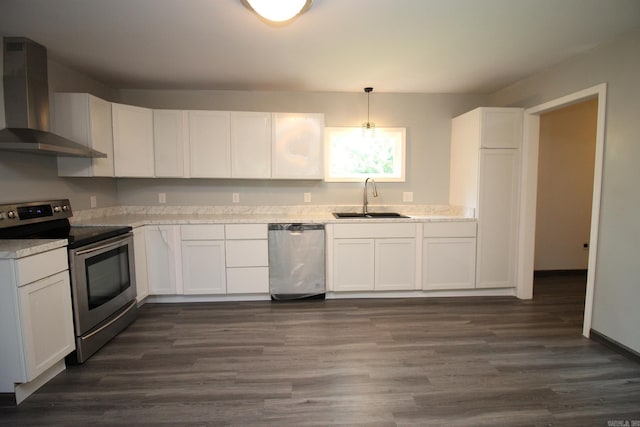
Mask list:
[{"label": "gray left wall behind the range hood and stove", "polygon": [[[110,100],[117,95],[105,85],[53,61],[48,62],[48,68],[50,92],[89,92]],[[0,121],[4,123],[4,91],[1,87],[0,100]],[[115,180],[59,178],[55,156],[0,151],[0,203],[68,198],[73,209],[78,210],[89,208],[92,195],[96,196],[99,207],[117,205]]]}]

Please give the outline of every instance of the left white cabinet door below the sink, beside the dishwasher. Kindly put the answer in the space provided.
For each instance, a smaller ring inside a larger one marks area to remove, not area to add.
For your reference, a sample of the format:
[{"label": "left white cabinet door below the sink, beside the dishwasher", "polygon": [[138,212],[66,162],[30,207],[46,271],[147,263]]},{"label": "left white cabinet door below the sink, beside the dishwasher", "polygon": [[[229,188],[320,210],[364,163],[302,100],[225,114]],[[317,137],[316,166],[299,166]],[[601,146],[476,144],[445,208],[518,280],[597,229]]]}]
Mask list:
[{"label": "left white cabinet door below the sink, beside the dishwasher", "polygon": [[333,288],[335,291],[374,289],[374,239],[333,241]]}]

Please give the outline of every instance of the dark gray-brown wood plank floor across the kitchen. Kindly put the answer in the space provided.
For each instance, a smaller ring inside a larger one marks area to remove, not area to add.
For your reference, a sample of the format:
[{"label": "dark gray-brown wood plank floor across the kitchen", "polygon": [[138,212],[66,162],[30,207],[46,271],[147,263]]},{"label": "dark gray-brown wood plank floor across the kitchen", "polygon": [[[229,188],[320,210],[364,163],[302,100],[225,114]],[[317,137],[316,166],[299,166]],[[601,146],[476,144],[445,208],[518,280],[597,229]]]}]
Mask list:
[{"label": "dark gray-brown wood plank floor across the kitchen", "polygon": [[2,425],[606,426],[640,365],[580,335],[584,278],[513,298],[148,304]]}]

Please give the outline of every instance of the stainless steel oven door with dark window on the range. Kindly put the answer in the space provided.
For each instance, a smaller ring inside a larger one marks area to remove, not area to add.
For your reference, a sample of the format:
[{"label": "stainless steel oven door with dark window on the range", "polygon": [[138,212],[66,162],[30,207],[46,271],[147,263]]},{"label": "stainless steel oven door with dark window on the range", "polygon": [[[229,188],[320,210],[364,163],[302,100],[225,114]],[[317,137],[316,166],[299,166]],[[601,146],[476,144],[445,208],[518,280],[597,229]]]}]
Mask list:
[{"label": "stainless steel oven door with dark window on the range", "polygon": [[77,336],[135,299],[132,233],[71,249],[69,263]]}]

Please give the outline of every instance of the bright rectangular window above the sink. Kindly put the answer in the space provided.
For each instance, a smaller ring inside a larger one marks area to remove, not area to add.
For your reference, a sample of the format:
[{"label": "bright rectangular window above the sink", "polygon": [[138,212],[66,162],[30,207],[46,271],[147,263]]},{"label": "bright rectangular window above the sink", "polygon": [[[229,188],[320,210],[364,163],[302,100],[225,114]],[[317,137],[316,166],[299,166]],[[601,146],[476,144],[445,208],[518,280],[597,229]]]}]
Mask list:
[{"label": "bright rectangular window above the sink", "polygon": [[376,128],[367,134],[359,127],[327,127],[325,181],[404,182],[405,128]]}]

